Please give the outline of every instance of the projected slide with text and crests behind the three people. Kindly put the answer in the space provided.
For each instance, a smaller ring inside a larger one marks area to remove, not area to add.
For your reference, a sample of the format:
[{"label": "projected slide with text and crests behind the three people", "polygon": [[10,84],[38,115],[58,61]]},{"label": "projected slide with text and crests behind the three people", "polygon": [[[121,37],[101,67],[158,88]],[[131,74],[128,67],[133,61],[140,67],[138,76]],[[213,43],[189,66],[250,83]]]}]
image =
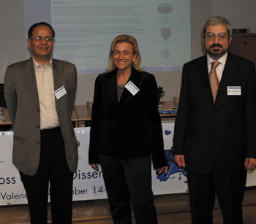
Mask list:
[{"label": "projected slide with text and crests behind the three people", "polygon": [[189,0],[24,0],[24,9],[26,31],[51,23],[53,57],[75,63],[80,74],[105,71],[110,43],[120,34],[138,40],[146,71],[180,70],[190,60]]}]

